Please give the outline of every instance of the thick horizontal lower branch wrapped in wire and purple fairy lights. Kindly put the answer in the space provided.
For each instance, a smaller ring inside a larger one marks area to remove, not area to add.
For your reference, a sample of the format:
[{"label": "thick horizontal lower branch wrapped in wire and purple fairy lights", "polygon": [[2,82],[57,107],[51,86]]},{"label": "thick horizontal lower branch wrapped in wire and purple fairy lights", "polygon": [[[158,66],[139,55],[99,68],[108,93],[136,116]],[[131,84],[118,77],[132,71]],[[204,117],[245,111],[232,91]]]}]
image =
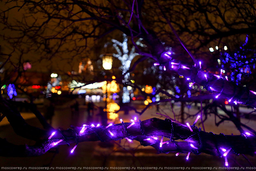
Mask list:
[{"label": "thick horizontal lower branch wrapped in wire and purple fairy lights", "polygon": [[[47,152],[50,148],[55,145],[66,145],[67,142],[79,143],[84,141],[111,141],[113,139],[123,139],[133,137],[134,140],[140,141],[144,146],[151,145],[156,148],[158,152],[193,152],[198,154],[198,149],[200,152],[204,152],[211,155],[220,155],[220,148],[232,148],[232,150],[237,154],[250,154],[255,155],[256,151],[256,137],[254,135],[216,135],[204,131],[200,131],[200,136],[198,135],[198,129],[196,127],[191,127],[191,131],[186,125],[180,123],[170,122],[167,120],[161,120],[157,118],[151,118],[141,122],[135,122],[129,129],[125,130],[124,126],[127,128],[131,123],[115,124],[105,127],[95,127],[92,129],[86,129],[83,133],[79,133],[82,127],[73,128],[73,130],[62,130],[56,132],[56,134],[50,139],[44,142],[37,142],[34,146],[17,146],[12,145],[4,140],[1,141],[1,156],[37,156],[42,155]],[[173,126],[173,128],[172,128]],[[90,127],[90,126],[86,126]],[[141,132],[141,127],[143,133]],[[112,133],[112,134],[110,134]],[[49,132],[49,135],[51,132]],[[108,135],[109,134],[109,135]],[[65,136],[65,141],[63,140]],[[168,143],[163,143],[162,147],[159,146],[160,141],[150,138],[150,136],[164,136],[167,138],[172,137],[173,139],[181,139],[184,141],[175,142],[168,141]],[[150,138],[150,140],[145,140]],[[186,141],[186,142],[185,142]],[[56,144],[59,142],[58,144]],[[55,145],[54,145],[55,143]],[[193,145],[192,148],[190,145]],[[16,149],[13,151],[13,149]],[[195,150],[197,149],[197,150]],[[12,153],[13,152],[13,153]],[[20,152],[20,153],[18,153]]]}]

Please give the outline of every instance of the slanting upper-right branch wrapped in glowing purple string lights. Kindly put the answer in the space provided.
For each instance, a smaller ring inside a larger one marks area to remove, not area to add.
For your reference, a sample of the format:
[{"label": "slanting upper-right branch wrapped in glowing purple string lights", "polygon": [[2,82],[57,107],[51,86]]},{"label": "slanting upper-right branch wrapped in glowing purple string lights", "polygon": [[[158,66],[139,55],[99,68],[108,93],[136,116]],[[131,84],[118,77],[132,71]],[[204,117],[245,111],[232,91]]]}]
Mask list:
[{"label": "slanting upper-right branch wrapped in glowing purple string lights", "polygon": [[170,52],[164,52],[162,55],[164,63],[155,63],[154,65],[163,65],[164,71],[174,70],[185,77],[191,87],[194,83],[203,85],[209,92],[217,92],[215,98],[227,98],[228,102],[233,101],[235,104],[241,103],[256,108],[256,90],[250,90],[243,85],[236,85],[230,82],[228,76],[222,77],[222,69],[220,75],[212,74],[202,70],[202,62],[199,61],[194,66],[186,66],[178,60],[172,60]]}]

